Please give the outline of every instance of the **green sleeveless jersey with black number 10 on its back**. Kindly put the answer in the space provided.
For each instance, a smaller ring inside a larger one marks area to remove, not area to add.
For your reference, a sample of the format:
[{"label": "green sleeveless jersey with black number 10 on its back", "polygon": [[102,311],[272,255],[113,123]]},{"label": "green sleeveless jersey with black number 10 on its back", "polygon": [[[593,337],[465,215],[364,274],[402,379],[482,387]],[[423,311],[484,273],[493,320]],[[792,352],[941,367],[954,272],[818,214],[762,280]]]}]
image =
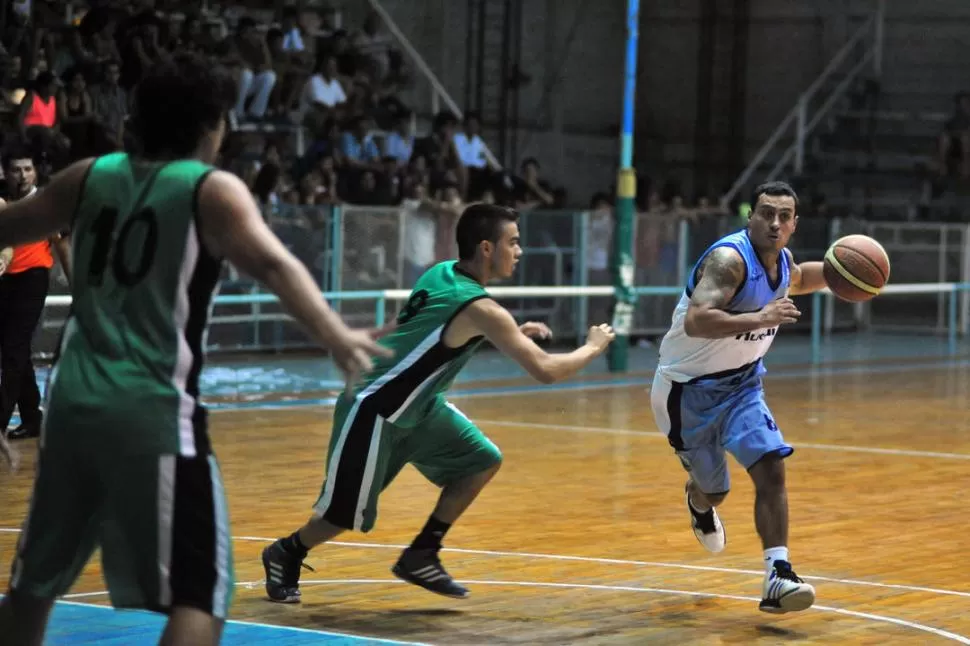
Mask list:
[{"label": "green sleeveless jersey with black number 10 on its back", "polygon": [[71,231],[71,316],[51,375],[51,441],[73,422],[96,436],[86,441],[119,452],[210,451],[198,379],[222,265],[196,225],[210,171],[124,153],[91,166]]}]

